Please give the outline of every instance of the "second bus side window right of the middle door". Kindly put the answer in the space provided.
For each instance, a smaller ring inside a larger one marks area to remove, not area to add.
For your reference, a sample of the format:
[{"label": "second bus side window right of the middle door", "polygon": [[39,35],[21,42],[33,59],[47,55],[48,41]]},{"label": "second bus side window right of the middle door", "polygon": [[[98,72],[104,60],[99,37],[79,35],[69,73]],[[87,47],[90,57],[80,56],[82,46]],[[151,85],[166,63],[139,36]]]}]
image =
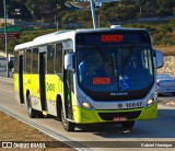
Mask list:
[{"label": "second bus side window right of the middle door", "polygon": [[55,72],[56,73],[61,73],[62,72],[62,44],[57,44],[56,45],[56,68]]}]

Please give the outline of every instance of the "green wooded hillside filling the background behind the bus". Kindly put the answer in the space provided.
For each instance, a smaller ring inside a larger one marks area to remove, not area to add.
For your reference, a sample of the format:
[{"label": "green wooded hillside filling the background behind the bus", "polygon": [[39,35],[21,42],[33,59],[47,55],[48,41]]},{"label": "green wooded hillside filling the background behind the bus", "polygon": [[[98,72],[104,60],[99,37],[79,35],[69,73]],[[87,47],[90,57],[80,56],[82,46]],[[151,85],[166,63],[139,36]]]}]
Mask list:
[{"label": "green wooded hillside filling the background behind the bus", "polygon": [[[78,23],[83,28],[92,28],[91,10],[85,7],[89,3],[81,4],[81,9],[78,9],[72,7],[78,3],[72,2],[73,0],[7,0],[7,12],[8,18],[23,22],[40,21],[55,24],[57,21],[58,30],[79,28]],[[0,5],[3,5],[2,0]],[[95,12],[100,27],[121,24],[127,27],[147,28],[156,48],[163,49],[175,45],[175,19],[173,19],[175,0],[121,0],[103,3]],[[3,18],[3,9],[0,9],[0,18]],[[20,39],[8,40],[8,50],[13,53],[15,45],[56,31],[57,27],[43,28],[43,26],[22,28]],[[4,51],[3,40],[0,40],[0,50]]]}]

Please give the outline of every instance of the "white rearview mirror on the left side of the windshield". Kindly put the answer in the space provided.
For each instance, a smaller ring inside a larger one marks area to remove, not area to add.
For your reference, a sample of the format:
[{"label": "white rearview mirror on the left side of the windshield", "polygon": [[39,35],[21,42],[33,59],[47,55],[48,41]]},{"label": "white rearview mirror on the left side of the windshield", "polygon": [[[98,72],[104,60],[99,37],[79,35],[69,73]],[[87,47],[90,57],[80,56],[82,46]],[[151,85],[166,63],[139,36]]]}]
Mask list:
[{"label": "white rearview mirror on the left side of the windshield", "polygon": [[73,53],[67,54],[65,56],[65,69],[69,71],[74,71],[73,68]]}]

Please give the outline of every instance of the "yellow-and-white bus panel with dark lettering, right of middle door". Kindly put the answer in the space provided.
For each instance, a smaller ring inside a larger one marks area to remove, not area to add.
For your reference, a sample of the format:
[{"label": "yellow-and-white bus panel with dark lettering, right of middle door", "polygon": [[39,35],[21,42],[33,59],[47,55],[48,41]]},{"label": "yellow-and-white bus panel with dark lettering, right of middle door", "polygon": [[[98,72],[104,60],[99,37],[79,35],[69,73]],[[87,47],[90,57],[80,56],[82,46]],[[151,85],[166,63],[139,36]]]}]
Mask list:
[{"label": "yellow-and-white bus panel with dark lettering, right of middle door", "polygon": [[57,116],[56,98],[57,95],[63,96],[63,82],[57,74],[46,74],[46,100],[48,114]]}]

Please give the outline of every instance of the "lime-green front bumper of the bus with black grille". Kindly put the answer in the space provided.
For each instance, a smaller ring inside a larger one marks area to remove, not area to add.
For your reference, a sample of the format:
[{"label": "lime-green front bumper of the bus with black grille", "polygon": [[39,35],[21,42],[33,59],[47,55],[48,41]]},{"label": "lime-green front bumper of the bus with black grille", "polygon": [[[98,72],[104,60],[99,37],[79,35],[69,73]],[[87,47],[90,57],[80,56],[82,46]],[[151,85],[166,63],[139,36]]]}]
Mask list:
[{"label": "lime-green front bumper of the bus with black grille", "polygon": [[158,117],[158,103],[149,107],[131,109],[84,109],[73,106],[73,118],[75,124],[116,123],[115,118],[127,120],[147,120]]}]

